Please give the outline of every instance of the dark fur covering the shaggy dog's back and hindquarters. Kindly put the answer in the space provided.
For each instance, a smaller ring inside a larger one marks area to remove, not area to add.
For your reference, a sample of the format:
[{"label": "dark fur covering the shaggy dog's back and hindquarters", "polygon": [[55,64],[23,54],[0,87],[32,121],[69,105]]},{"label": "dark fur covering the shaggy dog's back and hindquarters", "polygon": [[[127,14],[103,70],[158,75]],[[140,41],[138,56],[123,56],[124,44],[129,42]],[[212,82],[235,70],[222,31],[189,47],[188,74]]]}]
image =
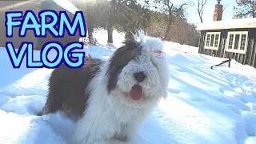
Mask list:
[{"label": "dark fur covering the shaggy dog's back and hindquarters", "polygon": [[48,81],[49,94],[46,105],[38,115],[64,110],[72,116],[82,116],[90,97],[86,87],[98,73],[102,63],[100,59],[86,57],[82,68],[70,69],[62,65],[54,69]]}]

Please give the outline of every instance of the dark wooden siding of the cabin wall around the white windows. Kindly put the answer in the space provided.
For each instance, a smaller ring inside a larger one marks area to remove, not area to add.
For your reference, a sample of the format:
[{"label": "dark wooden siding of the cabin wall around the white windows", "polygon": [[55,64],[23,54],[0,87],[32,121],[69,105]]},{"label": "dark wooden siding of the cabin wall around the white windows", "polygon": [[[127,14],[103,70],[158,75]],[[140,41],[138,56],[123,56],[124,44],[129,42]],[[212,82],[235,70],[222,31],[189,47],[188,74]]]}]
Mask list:
[{"label": "dark wooden siding of the cabin wall around the white windows", "polygon": [[[247,50],[246,54],[238,54],[226,52],[225,46],[227,41],[227,34],[229,31],[248,31]],[[207,32],[221,32],[221,39],[218,50],[205,49],[205,39]],[[202,30],[199,42],[199,54],[206,54],[220,58],[232,58],[243,65],[250,65],[256,68],[256,28],[250,29],[225,29],[225,30]]]}]

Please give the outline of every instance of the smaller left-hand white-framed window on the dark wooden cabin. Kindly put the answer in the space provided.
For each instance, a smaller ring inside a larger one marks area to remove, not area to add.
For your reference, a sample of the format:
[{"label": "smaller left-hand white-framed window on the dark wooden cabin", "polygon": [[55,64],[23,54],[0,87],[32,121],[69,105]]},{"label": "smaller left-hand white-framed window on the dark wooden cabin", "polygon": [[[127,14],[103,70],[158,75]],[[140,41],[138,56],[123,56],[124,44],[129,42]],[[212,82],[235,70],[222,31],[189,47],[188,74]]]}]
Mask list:
[{"label": "smaller left-hand white-framed window on the dark wooden cabin", "polygon": [[208,32],[206,33],[205,49],[218,50],[220,41],[220,32]]}]

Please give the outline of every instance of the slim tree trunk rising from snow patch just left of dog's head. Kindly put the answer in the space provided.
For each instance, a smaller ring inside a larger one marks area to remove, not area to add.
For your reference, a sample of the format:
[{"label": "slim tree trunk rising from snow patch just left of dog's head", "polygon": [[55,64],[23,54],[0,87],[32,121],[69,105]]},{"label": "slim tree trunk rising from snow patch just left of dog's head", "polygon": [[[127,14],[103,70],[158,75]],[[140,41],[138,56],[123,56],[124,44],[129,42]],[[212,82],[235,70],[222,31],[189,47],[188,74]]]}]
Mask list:
[{"label": "slim tree trunk rising from snow patch just left of dog's head", "polygon": [[113,25],[114,25],[114,7],[116,6],[116,1],[111,0],[110,15],[107,22],[107,42],[113,43]]}]

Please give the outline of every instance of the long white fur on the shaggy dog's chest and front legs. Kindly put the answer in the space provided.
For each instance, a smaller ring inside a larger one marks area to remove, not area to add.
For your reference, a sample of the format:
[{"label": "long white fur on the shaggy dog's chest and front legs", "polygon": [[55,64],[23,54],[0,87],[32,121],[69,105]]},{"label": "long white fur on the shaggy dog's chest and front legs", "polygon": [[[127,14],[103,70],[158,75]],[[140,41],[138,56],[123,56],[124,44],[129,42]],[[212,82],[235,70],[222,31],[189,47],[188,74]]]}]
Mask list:
[{"label": "long white fur on the shaggy dog's chest and front legs", "polygon": [[114,98],[117,95],[107,95],[106,83],[98,85],[98,82],[104,82],[100,74],[90,85],[94,97],[89,99],[85,115],[78,121],[78,129],[74,134],[76,144],[112,143],[111,138],[126,141],[126,138],[136,133],[154,108],[134,109],[124,106]]}]

